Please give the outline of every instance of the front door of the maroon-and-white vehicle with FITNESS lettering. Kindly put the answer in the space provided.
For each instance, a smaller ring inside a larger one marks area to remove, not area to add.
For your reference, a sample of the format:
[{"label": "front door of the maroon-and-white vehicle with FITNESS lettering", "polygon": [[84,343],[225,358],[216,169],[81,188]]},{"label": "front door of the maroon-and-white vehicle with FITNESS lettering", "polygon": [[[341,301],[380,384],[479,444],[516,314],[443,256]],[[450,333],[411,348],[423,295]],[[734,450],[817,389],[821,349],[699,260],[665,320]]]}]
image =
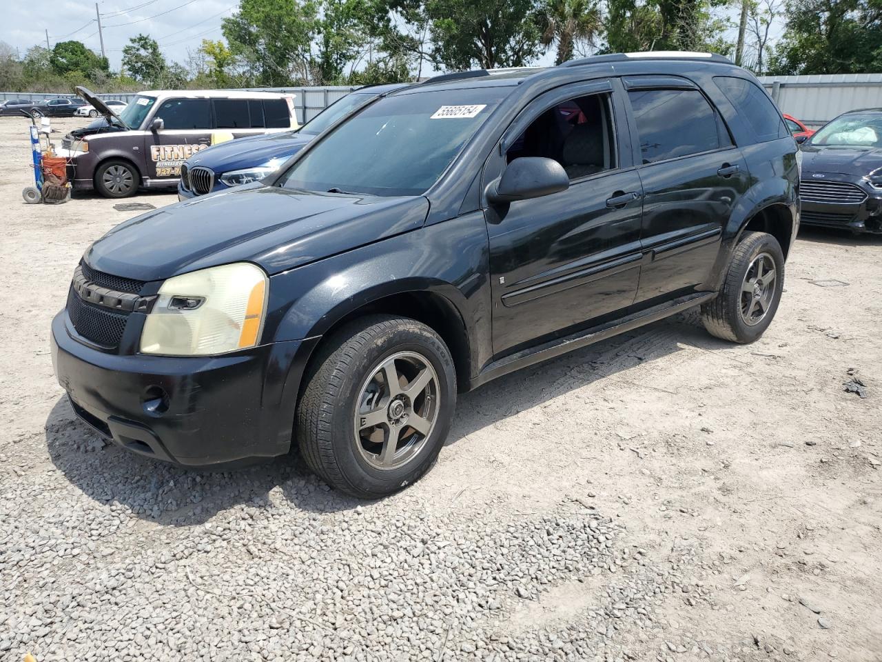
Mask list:
[{"label": "front door of the maroon-and-white vehicle with FITNESS lettering", "polygon": [[[155,119],[162,128],[151,129]],[[213,117],[210,99],[169,98],[157,104],[146,121],[145,154],[147,177],[176,181],[181,165],[212,142]]]}]

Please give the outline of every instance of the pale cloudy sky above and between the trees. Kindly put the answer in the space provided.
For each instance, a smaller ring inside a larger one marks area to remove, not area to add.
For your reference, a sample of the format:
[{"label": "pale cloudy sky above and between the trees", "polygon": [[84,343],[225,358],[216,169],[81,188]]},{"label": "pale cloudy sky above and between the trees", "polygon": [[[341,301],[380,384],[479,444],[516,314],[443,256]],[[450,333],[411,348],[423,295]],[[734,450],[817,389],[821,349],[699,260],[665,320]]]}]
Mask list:
[{"label": "pale cloudy sky above and between the trees", "polygon": [[[237,5],[237,0],[99,0],[110,68],[119,70],[123,46],[139,33],[158,41],[168,60],[185,64],[188,49],[195,51],[203,39],[221,39],[221,19]],[[45,46],[46,30],[50,46],[78,40],[101,52],[93,0],[18,0],[6,5],[6,13],[0,41],[19,49],[21,55],[34,44]],[[731,13],[729,19],[736,22],[737,11]],[[735,29],[731,32],[727,36],[734,41]],[[775,26],[773,34],[780,33],[780,26]],[[554,64],[553,50],[534,64]]]}]

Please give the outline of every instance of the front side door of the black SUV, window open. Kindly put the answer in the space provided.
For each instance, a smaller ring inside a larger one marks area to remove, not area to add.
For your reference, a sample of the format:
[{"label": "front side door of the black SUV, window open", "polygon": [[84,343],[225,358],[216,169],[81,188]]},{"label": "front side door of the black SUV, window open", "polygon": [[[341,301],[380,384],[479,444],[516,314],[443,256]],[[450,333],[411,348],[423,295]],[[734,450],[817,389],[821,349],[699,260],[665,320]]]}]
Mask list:
[{"label": "front side door of the black SUV, window open", "polygon": [[485,208],[497,356],[621,311],[639,281],[640,181],[617,80],[534,100],[491,154],[485,186],[520,156],[560,162],[570,187]]}]

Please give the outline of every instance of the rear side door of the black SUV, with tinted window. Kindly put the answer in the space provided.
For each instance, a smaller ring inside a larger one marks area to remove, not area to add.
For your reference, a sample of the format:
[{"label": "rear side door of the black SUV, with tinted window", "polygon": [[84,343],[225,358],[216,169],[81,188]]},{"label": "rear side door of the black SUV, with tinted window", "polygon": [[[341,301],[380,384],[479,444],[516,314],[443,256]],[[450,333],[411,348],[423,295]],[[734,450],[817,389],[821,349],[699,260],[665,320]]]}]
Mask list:
[{"label": "rear side door of the black SUV, with tinted window", "polygon": [[623,79],[643,187],[646,252],[635,303],[711,288],[722,230],[749,186],[740,150],[714,105],[686,79]]}]

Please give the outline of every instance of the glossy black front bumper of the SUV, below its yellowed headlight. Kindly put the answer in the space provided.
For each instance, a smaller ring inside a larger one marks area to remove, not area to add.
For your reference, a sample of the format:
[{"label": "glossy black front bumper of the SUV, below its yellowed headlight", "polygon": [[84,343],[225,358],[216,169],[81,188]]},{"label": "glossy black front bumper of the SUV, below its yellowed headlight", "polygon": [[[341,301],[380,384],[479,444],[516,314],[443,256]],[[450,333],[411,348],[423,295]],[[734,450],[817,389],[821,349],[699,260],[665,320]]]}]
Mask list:
[{"label": "glossy black front bumper of the SUV, below its yellowed headlight", "polygon": [[52,321],[52,363],[73,410],[117,445],[189,467],[284,455],[303,367],[318,339],[274,342],[220,357],[96,350]]}]

